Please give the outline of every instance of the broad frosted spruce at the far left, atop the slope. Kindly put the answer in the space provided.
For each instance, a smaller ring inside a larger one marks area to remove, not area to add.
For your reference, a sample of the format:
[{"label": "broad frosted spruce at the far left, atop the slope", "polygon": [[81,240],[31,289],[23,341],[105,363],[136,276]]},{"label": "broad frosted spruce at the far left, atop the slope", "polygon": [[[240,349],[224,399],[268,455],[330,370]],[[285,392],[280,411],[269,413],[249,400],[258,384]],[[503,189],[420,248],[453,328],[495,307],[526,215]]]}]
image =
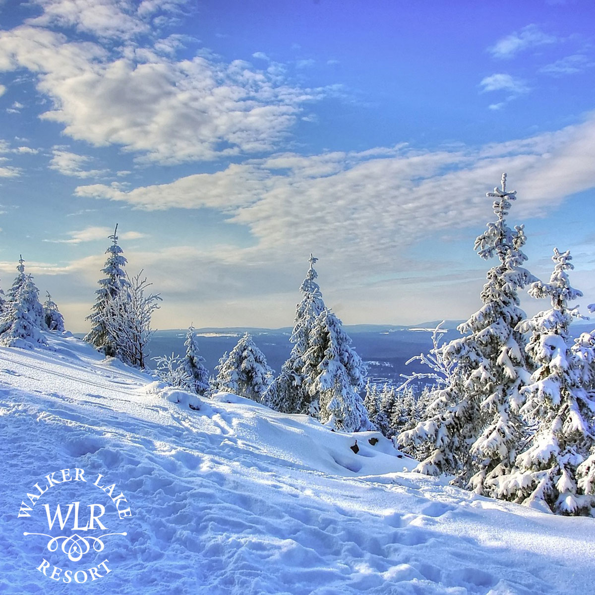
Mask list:
[{"label": "broad frosted spruce at the far left, atop the slope", "polygon": [[[22,266],[21,259],[19,267]],[[11,292],[11,300],[0,314],[0,345],[29,349],[47,345],[41,332],[43,317],[39,314],[41,305],[37,296],[39,290],[30,276]]]}]

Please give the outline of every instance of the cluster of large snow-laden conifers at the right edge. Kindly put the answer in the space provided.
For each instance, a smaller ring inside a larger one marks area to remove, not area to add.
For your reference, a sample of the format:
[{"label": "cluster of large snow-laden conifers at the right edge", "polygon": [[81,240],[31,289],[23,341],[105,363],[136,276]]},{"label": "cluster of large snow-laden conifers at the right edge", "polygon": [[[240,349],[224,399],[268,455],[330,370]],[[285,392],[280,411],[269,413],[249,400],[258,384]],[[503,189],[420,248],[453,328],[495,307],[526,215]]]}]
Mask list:
[{"label": "cluster of large snow-laden conifers at the right edge", "polygon": [[[434,346],[440,377],[430,405],[400,446],[421,462],[417,471],[455,476],[479,494],[531,503],[553,512],[595,510],[595,331],[572,340],[580,317],[569,302],[582,296],[569,282],[568,251],[553,250],[549,281],[526,268],[523,226],[506,216],[516,198],[502,186],[497,220],[475,240],[481,258],[496,258],[481,292],[483,306],[459,331]],[[519,290],[527,287],[551,308],[527,318]]]}]

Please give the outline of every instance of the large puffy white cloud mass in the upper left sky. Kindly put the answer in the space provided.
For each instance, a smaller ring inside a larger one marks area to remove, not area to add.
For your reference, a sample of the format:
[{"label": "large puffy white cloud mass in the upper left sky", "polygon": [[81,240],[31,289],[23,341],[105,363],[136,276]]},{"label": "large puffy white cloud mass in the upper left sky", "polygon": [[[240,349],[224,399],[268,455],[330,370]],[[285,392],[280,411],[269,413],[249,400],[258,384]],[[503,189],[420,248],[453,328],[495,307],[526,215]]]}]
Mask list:
[{"label": "large puffy white cloud mass in the upper left sky", "polygon": [[149,161],[270,151],[302,104],[325,93],[283,83],[282,69],[253,70],[242,61],[176,61],[134,45],[114,54],[38,27],[0,32],[0,71],[36,75],[38,90],[54,104],[43,118],[73,139],[120,145]]}]

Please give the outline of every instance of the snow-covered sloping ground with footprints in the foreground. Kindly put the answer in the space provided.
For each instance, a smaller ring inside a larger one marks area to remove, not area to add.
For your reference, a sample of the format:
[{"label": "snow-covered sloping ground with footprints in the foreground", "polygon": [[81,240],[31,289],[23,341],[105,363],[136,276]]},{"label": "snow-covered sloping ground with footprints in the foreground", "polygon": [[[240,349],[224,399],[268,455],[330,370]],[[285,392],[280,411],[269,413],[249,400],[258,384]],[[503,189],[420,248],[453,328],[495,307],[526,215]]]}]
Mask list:
[{"label": "snow-covered sloping ground with footprints in the foreground", "polygon": [[[49,343],[0,349],[2,593],[594,592],[595,519],[477,497],[409,472],[380,434],[333,433],[227,393],[190,397],[73,337]],[[87,483],[50,485],[18,516],[44,476],[76,468]],[[49,531],[44,503],[74,496],[126,532],[78,562],[23,535]]]}]

